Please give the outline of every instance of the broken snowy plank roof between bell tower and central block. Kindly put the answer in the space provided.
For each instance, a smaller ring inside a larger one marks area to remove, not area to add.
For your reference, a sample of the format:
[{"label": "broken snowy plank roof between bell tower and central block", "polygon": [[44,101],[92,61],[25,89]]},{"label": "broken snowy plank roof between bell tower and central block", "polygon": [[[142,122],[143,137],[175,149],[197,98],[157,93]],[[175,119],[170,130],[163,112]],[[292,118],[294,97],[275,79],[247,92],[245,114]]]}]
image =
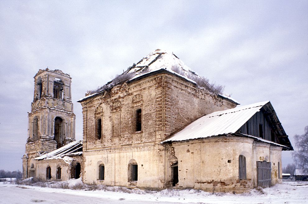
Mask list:
[{"label": "broken snowy plank roof between bell tower and central block", "polygon": [[35,160],[41,159],[63,159],[68,156],[82,155],[82,140],[71,142],[63,147],[60,147],[52,152],[43,154],[34,158]]}]

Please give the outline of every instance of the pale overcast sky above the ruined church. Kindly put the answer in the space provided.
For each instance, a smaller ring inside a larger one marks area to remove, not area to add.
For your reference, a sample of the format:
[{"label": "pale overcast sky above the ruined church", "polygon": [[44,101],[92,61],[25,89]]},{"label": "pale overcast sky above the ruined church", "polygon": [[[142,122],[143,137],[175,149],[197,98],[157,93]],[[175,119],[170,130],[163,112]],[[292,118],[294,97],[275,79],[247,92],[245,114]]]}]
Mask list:
[{"label": "pale overcast sky above the ruined church", "polygon": [[304,133],[307,1],[0,1],[0,169],[22,169],[39,69],[71,75],[78,140],[76,101],[157,48],[242,105],[270,100],[293,146]]}]

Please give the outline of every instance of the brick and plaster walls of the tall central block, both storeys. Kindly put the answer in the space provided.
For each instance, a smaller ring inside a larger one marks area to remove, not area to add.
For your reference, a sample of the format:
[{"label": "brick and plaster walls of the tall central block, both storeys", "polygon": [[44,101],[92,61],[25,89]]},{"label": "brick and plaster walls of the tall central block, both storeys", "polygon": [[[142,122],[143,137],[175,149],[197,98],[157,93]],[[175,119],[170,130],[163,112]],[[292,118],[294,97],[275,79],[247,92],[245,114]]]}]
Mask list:
[{"label": "brick and plaster walls of the tall central block, both storeys", "polygon": [[[161,141],[205,114],[236,106],[166,73],[117,85],[81,104],[83,181],[142,188],[170,186],[167,169],[172,153],[159,144]],[[134,114],[138,108],[142,109],[142,131],[136,132]],[[102,118],[101,139],[96,135],[96,118]],[[138,163],[138,182],[133,183],[128,182],[131,159]],[[99,163],[105,166],[104,181],[97,180]]]}]

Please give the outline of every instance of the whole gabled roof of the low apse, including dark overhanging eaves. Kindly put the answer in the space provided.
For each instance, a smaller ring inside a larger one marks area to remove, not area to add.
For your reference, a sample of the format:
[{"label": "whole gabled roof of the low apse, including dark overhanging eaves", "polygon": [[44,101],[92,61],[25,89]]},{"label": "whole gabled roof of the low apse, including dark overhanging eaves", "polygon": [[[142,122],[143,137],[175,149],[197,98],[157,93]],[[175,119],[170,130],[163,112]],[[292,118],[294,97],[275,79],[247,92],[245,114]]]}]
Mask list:
[{"label": "whole gabled roof of the low apse, including dark overhanging eaves", "polygon": [[[264,109],[273,129],[276,133],[278,133],[277,137],[279,144],[255,136],[238,133],[240,127],[244,125],[256,112],[260,111],[261,108]],[[293,150],[289,138],[282,128],[274,108],[269,101],[213,112],[195,120],[162,143],[208,138],[226,134],[251,137],[255,140],[282,146],[283,150]]]}]

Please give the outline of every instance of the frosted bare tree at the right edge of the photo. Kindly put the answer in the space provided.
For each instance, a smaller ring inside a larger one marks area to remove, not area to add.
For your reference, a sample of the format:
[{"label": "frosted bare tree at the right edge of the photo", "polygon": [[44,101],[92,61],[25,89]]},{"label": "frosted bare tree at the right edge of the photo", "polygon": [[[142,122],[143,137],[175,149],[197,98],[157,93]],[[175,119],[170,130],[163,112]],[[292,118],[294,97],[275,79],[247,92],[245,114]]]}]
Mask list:
[{"label": "frosted bare tree at the right edge of the photo", "polygon": [[296,161],[298,168],[308,174],[308,126],[305,127],[305,133],[295,135],[295,146],[297,151],[294,151],[292,156]]}]

